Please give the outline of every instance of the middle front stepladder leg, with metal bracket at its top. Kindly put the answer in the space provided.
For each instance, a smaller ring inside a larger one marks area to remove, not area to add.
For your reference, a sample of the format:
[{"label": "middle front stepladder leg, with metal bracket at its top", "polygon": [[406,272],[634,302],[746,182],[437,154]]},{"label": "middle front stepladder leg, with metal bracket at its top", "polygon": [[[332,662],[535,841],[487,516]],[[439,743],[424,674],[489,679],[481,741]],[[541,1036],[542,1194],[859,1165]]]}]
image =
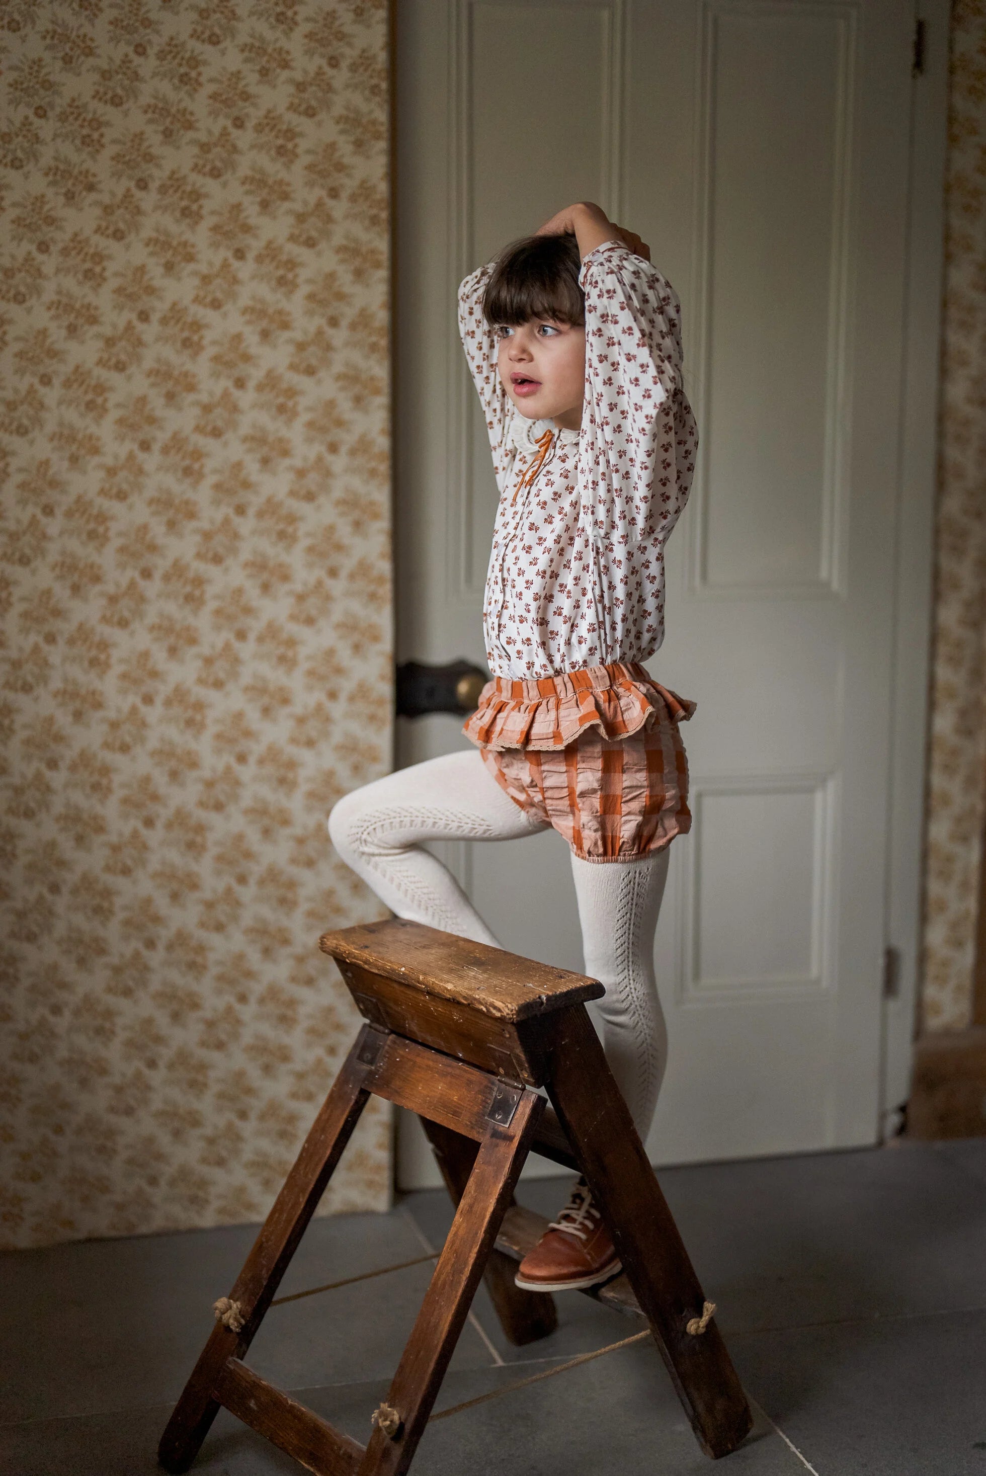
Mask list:
[{"label": "middle front stepladder leg, with metal bracket at its top", "polygon": [[410,1466],[542,1110],[543,1098],[525,1091],[509,1126],[492,1125],[483,1138],[387,1395],[400,1426],[393,1436],[373,1430],[357,1476],[403,1476]]}]

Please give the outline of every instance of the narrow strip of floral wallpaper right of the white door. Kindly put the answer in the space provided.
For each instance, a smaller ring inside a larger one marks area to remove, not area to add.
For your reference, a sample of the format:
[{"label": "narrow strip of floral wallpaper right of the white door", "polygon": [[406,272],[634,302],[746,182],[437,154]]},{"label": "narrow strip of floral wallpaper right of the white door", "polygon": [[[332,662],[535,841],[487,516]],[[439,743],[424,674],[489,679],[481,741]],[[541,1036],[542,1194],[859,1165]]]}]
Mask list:
[{"label": "narrow strip of floral wallpaper right of the white door", "polygon": [[928,772],[927,1030],[961,1030],[986,815],[986,4],[952,7]]}]

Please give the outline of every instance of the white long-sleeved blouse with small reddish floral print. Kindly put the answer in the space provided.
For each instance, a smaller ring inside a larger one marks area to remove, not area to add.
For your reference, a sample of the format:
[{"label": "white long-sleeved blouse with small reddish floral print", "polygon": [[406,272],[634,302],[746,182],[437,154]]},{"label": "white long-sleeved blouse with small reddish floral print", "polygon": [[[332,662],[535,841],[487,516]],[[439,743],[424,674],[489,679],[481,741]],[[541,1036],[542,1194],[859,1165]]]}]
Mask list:
[{"label": "white long-sleeved blouse with small reddish floral print", "polygon": [[492,270],[459,288],[459,332],[500,490],[483,605],[490,670],[530,679],[645,661],[664,639],[664,543],[698,446],[678,297],[618,242],[589,252],[582,430],[556,431],[518,415],[500,384],[483,317]]}]

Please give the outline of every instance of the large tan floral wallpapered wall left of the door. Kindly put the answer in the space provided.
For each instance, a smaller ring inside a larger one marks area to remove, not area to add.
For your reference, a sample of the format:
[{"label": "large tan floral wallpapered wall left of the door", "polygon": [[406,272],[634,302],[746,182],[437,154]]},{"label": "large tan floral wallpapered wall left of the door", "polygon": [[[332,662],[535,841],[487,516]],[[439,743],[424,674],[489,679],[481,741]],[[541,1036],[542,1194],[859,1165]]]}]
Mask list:
[{"label": "large tan floral wallpapered wall left of the door", "polygon": [[385,6],[4,0],[0,92],[1,1240],[252,1221],[379,915]]}]

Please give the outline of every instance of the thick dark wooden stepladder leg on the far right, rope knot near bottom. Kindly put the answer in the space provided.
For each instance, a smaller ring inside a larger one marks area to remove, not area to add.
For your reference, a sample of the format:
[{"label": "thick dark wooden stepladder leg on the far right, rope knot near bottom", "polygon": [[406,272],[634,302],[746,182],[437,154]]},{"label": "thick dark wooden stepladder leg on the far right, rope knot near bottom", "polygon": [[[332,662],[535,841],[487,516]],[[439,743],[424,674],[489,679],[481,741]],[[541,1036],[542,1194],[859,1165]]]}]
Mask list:
[{"label": "thick dark wooden stepladder leg on the far right, rope knot near bottom", "polygon": [[728,1455],[751,1426],[750,1407],[716,1322],[694,1336],[704,1294],[633,1119],[583,1005],[549,1027],[548,1092],[602,1206],[630,1286],[707,1455]]}]

